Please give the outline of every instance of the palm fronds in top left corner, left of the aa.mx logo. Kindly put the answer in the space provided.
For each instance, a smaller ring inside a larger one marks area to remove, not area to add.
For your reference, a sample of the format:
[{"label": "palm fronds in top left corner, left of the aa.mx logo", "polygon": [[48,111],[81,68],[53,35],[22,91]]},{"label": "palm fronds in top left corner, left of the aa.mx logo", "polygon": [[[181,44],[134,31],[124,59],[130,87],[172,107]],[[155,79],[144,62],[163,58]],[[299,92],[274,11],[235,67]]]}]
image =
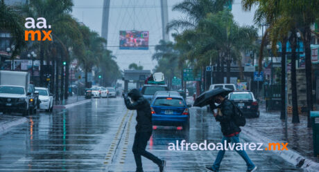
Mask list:
[{"label": "palm fronds in top left corner, left of the aa.mx logo", "polygon": [[[11,59],[14,59],[19,54],[22,48],[24,48],[24,24],[22,18],[12,8],[6,6],[4,0],[0,1],[0,30],[9,32],[12,37]],[[0,66],[1,68],[1,66]]]}]

